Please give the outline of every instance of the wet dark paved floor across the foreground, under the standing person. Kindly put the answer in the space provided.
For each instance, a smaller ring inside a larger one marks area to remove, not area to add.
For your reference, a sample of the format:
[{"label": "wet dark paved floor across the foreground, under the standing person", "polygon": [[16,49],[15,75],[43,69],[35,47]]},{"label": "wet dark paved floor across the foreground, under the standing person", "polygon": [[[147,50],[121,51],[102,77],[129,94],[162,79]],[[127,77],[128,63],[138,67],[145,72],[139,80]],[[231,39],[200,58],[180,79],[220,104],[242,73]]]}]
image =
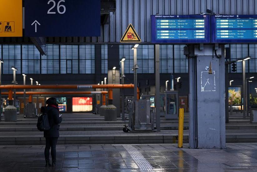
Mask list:
[{"label": "wet dark paved floor across the foreground, under the standing person", "polygon": [[57,166],[44,167],[44,146],[0,146],[0,172],[256,171],[257,143],[227,149],[178,149],[176,144],[58,145]]}]

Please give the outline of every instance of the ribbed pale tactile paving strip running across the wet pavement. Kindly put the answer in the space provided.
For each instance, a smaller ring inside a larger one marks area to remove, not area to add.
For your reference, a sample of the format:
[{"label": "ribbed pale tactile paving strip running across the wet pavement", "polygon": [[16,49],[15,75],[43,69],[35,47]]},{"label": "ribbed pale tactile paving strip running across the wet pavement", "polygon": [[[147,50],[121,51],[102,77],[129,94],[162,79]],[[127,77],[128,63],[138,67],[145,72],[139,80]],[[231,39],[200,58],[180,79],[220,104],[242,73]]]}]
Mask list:
[{"label": "ribbed pale tactile paving strip running across the wet pavement", "polygon": [[131,158],[135,161],[136,165],[142,172],[154,172],[151,164],[143,157],[140,152],[131,145],[123,145],[123,147],[130,154]]}]

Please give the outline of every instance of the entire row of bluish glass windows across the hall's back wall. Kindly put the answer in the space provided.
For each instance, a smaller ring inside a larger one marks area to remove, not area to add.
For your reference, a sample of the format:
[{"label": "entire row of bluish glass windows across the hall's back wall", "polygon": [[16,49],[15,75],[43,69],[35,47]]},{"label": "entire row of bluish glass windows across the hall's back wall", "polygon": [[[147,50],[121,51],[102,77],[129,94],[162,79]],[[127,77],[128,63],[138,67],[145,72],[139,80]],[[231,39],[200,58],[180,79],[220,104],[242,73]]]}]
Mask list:
[{"label": "entire row of bluish glass windows across the hall's back wall", "polygon": [[[133,45],[120,45],[119,58],[126,58],[124,72],[133,73]],[[160,73],[188,73],[188,60],[183,53],[185,45],[160,45]],[[257,72],[257,44],[227,44],[230,61],[250,56],[245,62],[246,72]],[[47,44],[47,55],[40,55],[34,45],[0,45],[3,74],[94,74],[95,45]],[[242,72],[242,62],[236,62],[236,73]],[[137,48],[138,73],[154,73],[154,45],[141,44]],[[101,45],[101,73],[107,74],[108,46]],[[231,65],[229,68],[231,71]],[[234,72],[235,73],[235,72]]]}]

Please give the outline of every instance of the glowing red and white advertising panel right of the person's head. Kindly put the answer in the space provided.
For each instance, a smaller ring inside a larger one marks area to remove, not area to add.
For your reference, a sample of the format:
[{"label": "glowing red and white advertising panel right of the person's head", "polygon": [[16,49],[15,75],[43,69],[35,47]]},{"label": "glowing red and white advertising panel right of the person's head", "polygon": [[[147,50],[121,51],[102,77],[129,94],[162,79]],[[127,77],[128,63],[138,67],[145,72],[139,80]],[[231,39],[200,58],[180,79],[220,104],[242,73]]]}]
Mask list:
[{"label": "glowing red and white advertising panel right of the person's head", "polygon": [[92,97],[72,97],[72,112],[91,112],[92,110]]}]

